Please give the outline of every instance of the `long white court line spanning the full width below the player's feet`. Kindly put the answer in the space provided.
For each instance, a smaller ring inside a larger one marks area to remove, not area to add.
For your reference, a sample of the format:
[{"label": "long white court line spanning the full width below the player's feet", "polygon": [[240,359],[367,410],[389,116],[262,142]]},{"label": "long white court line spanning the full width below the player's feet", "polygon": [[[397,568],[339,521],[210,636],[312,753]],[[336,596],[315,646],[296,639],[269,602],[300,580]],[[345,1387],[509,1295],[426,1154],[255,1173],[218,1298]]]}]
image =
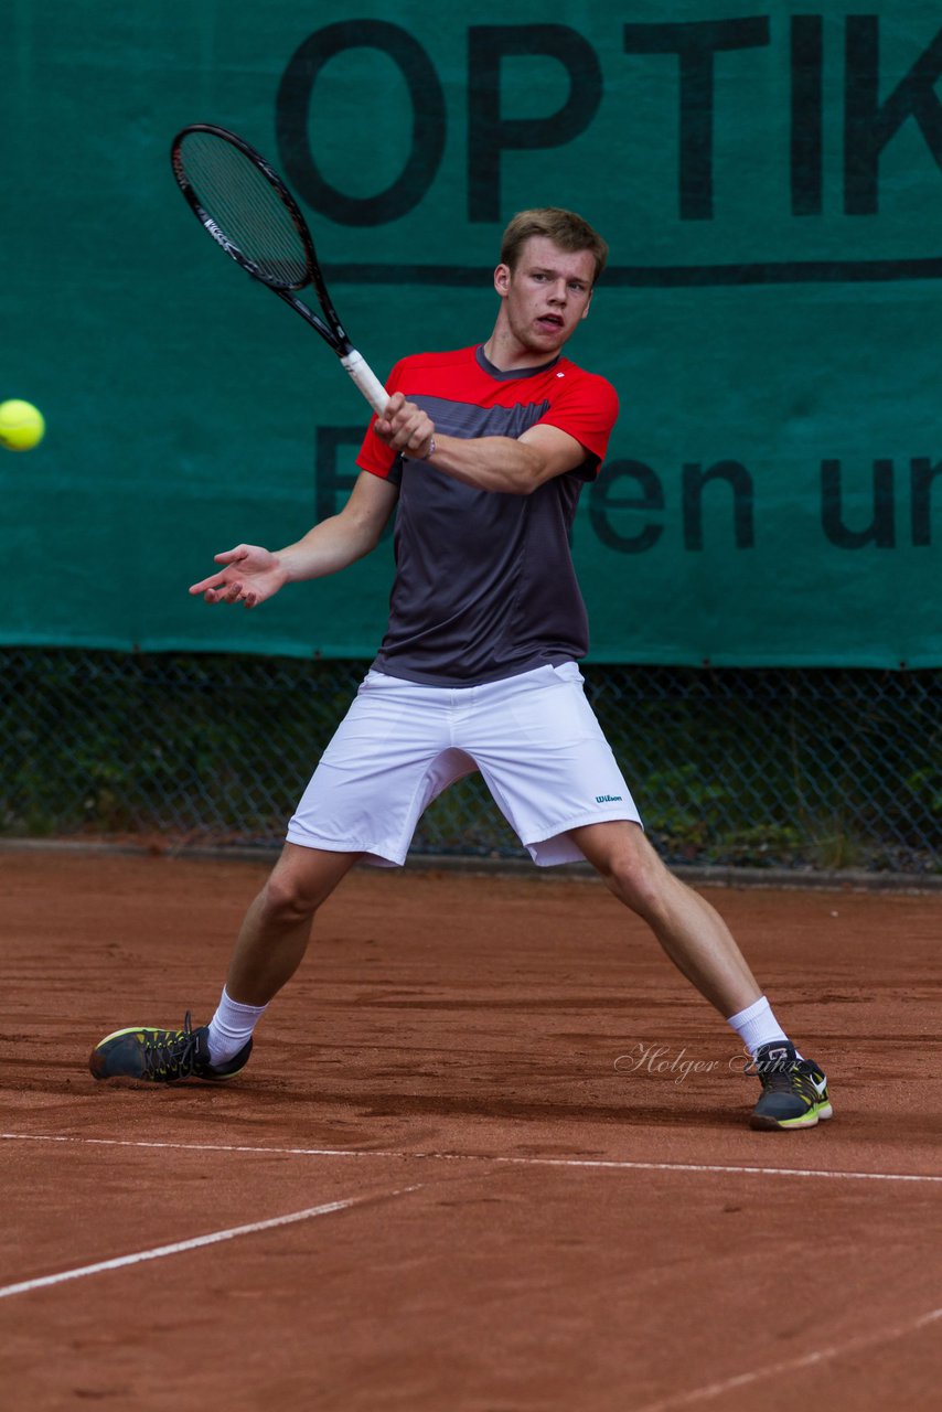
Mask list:
[{"label": "long white court line spanning the full width below the player's feet", "polygon": [[244,1147],[226,1142],[144,1142],[130,1138],[82,1138],[68,1134],[48,1132],[0,1132],[0,1139],[8,1142],[83,1142],[89,1147],[133,1147],[160,1148],[181,1152],[254,1152],[260,1156],[342,1156],[342,1158],[395,1158],[415,1162],[490,1162],[504,1166],[562,1166],[600,1168],[616,1172],[719,1172],[722,1175],[747,1176],[818,1176],[826,1180],[843,1182],[942,1182],[942,1176],[911,1172],[829,1172],[821,1168],[802,1166],[720,1166],[712,1162],[620,1162],[607,1158],[569,1156],[491,1156],[486,1152],[401,1152],[383,1148],[277,1148]]}]

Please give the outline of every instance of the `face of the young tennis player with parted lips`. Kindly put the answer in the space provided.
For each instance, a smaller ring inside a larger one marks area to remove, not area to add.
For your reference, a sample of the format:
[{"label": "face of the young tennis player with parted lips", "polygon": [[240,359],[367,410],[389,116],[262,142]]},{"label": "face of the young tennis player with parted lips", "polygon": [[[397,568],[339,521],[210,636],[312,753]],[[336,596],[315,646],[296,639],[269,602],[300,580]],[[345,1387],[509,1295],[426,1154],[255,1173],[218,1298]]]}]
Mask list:
[{"label": "face of the young tennis player with parted lips", "polygon": [[501,312],[521,350],[547,361],[558,353],[589,312],[595,268],[589,250],[561,250],[547,236],[525,241],[514,270],[497,265]]}]

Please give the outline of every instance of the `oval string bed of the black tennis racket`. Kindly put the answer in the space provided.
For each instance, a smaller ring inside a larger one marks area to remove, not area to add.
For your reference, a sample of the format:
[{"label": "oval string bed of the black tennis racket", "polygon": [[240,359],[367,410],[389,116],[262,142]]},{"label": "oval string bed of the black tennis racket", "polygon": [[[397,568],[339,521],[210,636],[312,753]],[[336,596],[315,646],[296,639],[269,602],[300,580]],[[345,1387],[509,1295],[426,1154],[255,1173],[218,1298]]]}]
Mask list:
[{"label": "oval string bed of the black tennis racket", "polygon": [[[268,284],[301,289],[308,251],[278,189],[237,147],[212,133],[189,133],[181,145],[184,172],[223,240],[257,267]],[[219,240],[219,236],[210,230]]]}]

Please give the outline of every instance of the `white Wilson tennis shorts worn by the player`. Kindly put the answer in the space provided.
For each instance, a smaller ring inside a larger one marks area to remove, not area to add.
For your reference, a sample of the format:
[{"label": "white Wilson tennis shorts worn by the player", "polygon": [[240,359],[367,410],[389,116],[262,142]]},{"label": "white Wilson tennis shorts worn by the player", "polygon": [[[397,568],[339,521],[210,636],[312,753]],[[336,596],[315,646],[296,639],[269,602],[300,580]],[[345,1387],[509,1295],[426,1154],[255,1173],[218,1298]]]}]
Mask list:
[{"label": "white Wilson tennis shorts worn by the player", "polygon": [[459,689],[370,671],[288,842],[400,866],[432,799],[475,770],[539,867],[583,861],[569,829],[641,822],[575,662]]}]

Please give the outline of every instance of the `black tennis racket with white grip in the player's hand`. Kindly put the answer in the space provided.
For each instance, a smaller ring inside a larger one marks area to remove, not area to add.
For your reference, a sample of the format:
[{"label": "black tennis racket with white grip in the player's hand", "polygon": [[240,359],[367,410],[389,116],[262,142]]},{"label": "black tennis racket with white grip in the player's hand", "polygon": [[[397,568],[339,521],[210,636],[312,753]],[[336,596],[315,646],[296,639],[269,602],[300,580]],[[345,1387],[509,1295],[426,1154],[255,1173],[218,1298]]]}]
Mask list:
[{"label": "black tennis racket with white grip in the player's hand", "polygon": [[[378,417],[388,393],[350,343],[318,264],[301,208],[254,147],[225,127],[192,123],[171,147],[174,176],[201,226],[254,280],[312,325]],[[298,298],[311,285],[319,313]]]}]

